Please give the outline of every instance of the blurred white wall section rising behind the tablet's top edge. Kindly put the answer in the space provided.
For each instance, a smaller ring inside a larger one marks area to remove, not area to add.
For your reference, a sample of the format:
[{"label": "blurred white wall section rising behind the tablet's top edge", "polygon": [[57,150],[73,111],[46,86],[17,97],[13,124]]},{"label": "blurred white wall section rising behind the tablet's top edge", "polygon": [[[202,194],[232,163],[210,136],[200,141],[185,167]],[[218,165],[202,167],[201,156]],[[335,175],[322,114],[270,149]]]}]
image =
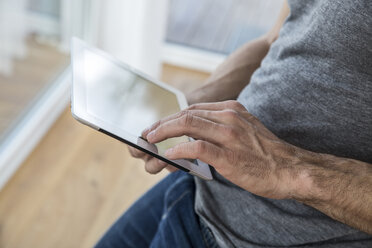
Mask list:
[{"label": "blurred white wall section rising behind the tablet's top edge", "polygon": [[158,77],[168,0],[112,0],[102,4],[99,46]]}]

